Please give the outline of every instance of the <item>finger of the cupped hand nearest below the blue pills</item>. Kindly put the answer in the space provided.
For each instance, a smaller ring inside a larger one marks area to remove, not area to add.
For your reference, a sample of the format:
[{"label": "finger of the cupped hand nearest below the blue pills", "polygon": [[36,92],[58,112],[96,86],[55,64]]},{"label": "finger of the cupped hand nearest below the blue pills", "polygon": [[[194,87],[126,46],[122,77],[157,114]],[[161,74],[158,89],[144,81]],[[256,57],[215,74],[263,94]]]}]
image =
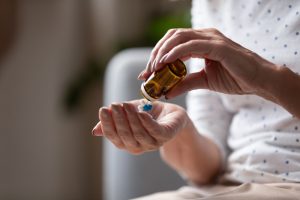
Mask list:
[{"label": "finger of the cupped hand nearest below the blue pills", "polygon": [[160,145],[169,138],[169,134],[166,133],[162,126],[156,122],[148,113],[140,112],[138,117],[141,120],[145,130],[157,140]]}]

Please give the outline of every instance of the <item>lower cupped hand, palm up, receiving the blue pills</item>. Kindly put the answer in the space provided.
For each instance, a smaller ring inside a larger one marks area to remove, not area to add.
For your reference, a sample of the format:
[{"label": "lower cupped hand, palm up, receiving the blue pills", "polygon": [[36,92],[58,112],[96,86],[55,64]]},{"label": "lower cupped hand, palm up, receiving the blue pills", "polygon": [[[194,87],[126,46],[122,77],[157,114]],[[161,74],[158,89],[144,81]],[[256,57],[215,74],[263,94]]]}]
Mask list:
[{"label": "lower cupped hand, palm up, receiving the blue pills", "polygon": [[140,101],[102,107],[93,134],[103,135],[116,147],[139,154],[157,150],[187,124],[185,110],[177,105],[154,102],[151,112],[146,113],[137,111]]}]

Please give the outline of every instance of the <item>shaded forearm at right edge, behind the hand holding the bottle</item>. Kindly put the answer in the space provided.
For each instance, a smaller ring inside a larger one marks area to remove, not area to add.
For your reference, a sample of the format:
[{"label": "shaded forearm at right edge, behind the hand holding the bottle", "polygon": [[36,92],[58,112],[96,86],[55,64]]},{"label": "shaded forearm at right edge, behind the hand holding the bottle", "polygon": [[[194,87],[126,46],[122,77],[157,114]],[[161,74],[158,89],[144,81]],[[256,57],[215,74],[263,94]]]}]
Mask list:
[{"label": "shaded forearm at right edge, behind the hand holding the bottle", "polygon": [[278,67],[266,80],[264,89],[270,100],[300,119],[300,76],[287,67]]}]

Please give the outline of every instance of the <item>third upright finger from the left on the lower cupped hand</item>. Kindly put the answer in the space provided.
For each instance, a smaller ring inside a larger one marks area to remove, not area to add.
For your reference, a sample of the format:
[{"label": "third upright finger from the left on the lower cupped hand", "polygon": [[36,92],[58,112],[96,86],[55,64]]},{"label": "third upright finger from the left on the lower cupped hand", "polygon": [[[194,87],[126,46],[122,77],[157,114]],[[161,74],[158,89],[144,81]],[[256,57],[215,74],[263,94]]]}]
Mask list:
[{"label": "third upright finger from the left on the lower cupped hand", "polygon": [[147,133],[147,131],[141,124],[136,108],[130,103],[123,103],[123,107],[126,112],[134,138],[147,149],[156,148],[157,141],[151,135],[149,135],[149,133]]}]

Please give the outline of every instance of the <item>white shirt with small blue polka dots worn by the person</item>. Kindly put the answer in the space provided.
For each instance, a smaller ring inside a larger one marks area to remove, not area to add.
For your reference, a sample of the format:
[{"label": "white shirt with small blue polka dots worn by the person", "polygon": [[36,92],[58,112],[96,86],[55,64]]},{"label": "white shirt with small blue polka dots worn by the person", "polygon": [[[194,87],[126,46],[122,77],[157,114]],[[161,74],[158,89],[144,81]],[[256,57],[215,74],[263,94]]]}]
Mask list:
[{"label": "white shirt with small blue polka dots worn by the person", "polygon": [[[300,1],[193,0],[192,24],[217,28],[265,59],[300,72]],[[204,64],[192,59],[190,65],[193,72]],[[300,120],[284,108],[254,95],[207,90],[190,92],[187,106],[199,133],[219,146],[227,180],[300,182]]]}]

